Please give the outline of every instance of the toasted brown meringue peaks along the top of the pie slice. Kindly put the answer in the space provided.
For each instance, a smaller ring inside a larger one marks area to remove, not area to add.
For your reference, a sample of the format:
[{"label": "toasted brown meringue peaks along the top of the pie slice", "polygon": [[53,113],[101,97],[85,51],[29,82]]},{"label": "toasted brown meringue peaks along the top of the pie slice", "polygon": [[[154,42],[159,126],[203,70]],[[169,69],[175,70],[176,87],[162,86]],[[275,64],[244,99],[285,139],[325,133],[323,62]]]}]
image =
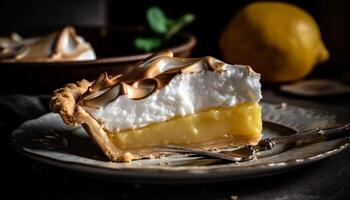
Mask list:
[{"label": "toasted brown meringue peaks along the top of the pie slice", "polygon": [[167,85],[177,74],[222,71],[224,65],[225,63],[210,56],[174,58],[171,51],[161,51],[133,66],[127,74],[101,74],[82,95],[79,104],[98,108],[120,95],[134,100],[143,99]]}]

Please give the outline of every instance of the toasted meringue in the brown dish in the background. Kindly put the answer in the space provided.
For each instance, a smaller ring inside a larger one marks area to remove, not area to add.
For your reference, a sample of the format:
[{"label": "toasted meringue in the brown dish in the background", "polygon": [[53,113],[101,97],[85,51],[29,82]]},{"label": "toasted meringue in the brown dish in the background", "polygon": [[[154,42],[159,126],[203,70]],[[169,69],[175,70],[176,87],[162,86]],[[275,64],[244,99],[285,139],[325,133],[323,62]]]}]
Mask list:
[{"label": "toasted meringue in the brown dish in the background", "polygon": [[91,45],[76,34],[73,27],[35,38],[21,38],[13,33],[0,38],[2,62],[52,62],[96,59]]}]

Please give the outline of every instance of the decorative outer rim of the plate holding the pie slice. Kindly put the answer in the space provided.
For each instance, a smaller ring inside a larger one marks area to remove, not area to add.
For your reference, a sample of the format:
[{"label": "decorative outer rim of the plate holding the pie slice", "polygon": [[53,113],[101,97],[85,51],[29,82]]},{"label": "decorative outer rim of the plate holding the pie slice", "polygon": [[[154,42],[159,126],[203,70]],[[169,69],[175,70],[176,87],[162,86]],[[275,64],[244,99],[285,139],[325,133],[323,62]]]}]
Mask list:
[{"label": "decorative outer rim of the plate holding the pie slice", "polygon": [[[263,104],[268,104],[268,105],[272,105],[272,106],[284,106],[283,103],[281,104],[271,104],[271,103],[263,103]],[[317,113],[322,113],[325,115],[332,115],[335,117],[335,121],[336,122],[344,122],[344,120],[340,119],[339,117],[337,117],[337,115],[335,115],[334,113],[328,112],[328,111],[324,111],[324,110],[320,110],[320,109],[314,109],[314,108],[304,108],[301,106],[297,106],[297,105],[293,105],[293,104],[287,104],[287,106],[292,106],[292,107],[298,107],[298,108],[302,108],[302,109],[306,109],[306,110],[311,110],[313,112],[317,112]],[[52,113],[47,113],[41,117],[44,117],[46,115],[50,115]],[[39,118],[41,118],[39,117]],[[15,135],[18,134],[17,132],[23,127],[23,125],[25,123],[28,123],[29,121],[34,121],[37,120],[39,118],[36,119],[32,119],[32,120],[28,120],[26,122],[24,122],[22,125],[20,125],[17,129],[15,129],[11,135],[10,135],[10,143],[11,146],[16,149],[16,151],[20,152],[21,154],[25,155],[26,157],[29,157],[31,159],[34,159],[36,161],[39,162],[43,162],[49,165],[53,165],[53,166],[57,166],[60,168],[64,168],[64,169],[68,169],[68,170],[74,170],[74,171],[80,171],[80,172],[85,172],[85,173],[93,173],[93,174],[104,174],[104,175],[112,175],[112,176],[125,176],[125,177],[130,177],[131,175],[137,177],[137,174],[142,174],[142,177],[145,177],[147,175],[147,173],[150,173],[150,177],[154,178],[154,172],[161,172],[162,174],[164,173],[164,175],[172,175],[171,180],[173,180],[174,178],[180,178],[183,179],[185,176],[188,176],[189,174],[191,175],[189,177],[189,179],[195,179],[198,178],[198,180],[201,180],[201,176],[205,174],[206,178],[217,178],[218,176],[229,176],[229,175],[234,175],[234,179],[240,179],[239,176],[237,176],[237,172],[245,172],[242,173],[242,176],[245,177],[241,177],[241,178],[249,178],[247,176],[257,176],[257,175],[261,175],[261,173],[263,171],[269,172],[268,174],[274,174],[274,173],[280,173],[281,170],[290,170],[293,169],[295,167],[302,167],[305,166],[307,164],[322,160],[324,158],[330,157],[332,155],[335,155],[343,150],[345,150],[347,147],[350,146],[350,137],[345,137],[342,138],[341,140],[339,140],[339,143],[337,144],[337,147],[329,150],[329,151],[325,151],[322,153],[319,153],[315,156],[312,157],[306,157],[306,158],[302,158],[300,160],[297,159],[291,159],[288,161],[283,161],[283,162],[272,162],[272,163],[268,163],[268,164],[264,164],[264,163],[258,163],[255,165],[249,165],[249,166],[239,166],[239,165],[234,165],[232,163],[229,164],[224,164],[224,165],[213,165],[213,166],[176,166],[176,167],[163,167],[163,166],[120,166],[118,168],[113,168],[113,167],[106,167],[106,166],[101,166],[101,165],[93,165],[91,163],[80,163],[80,162],[74,162],[74,161],[68,161],[68,160],[60,160],[58,158],[54,158],[54,157],[48,157],[45,155],[41,155],[38,153],[34,153],[32,152],[30,149],[27,149],[26,147],[20,146],[16,140],[15,140]],[[275,123],[275,122],[273,122]],[[278,124],[278,123],[277,123]],[[280,124],[282,126],[285,126],[283,124]],[[290,127],[288,127],[290,128]],[[23,129],[23,128],[22,128]],[[77,155],[74,155],[77,156]],[[90,158],[87,158],[90,159]],[[103,162],[103,161],[101,161]],[[111,161],[107,161],[107,162],[111,162]],[[111,162],[113,163],[113,162]],[[255,170],[255,173],[248,173],[247,172],[251,172],[253,170]],[[93,172],[92,172],[93,171]],[[177,172],[182,172],[182,173],[177,173]],[[128,172],[125,174],[125,172]],[[137,173],[135,175],[135,173]],[[131,175],[130,175],[131,174]],[[174,176],[175,175],[175,176]],[[177,175],[177,176],[176,176]],[[196,176],[199,175],[199,176]],[[264,175],[262,175],[264,176]],[[149,177],[149,178],[150,178]],[[160,178],[160,176],[157,176],[157,178]],[[167,178],[167,177],[165,177]],[[232,178],[231,178],[232,179]],[[194,180],[195,181],[195,180]],[[147,181],[146,181],[147,182]]]}]

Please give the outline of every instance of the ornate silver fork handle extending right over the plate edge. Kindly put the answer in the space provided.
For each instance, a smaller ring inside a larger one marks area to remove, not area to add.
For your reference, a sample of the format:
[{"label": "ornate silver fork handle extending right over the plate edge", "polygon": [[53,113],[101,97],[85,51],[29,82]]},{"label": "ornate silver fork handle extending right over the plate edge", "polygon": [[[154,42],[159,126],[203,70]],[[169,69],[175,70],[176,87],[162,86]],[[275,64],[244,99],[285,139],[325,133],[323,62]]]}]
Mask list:
[{"label": "ornate silver fork handle extending right over the plate edge", "polygon": [[259,150],[270,150],[279,144],[289,144],[293,142],[310,139],[327,139],[350,136],[350,123],[336,124],[325,128],[316,128],[307,131],[297,132],[294,135],[268,138],[258,143]]}]

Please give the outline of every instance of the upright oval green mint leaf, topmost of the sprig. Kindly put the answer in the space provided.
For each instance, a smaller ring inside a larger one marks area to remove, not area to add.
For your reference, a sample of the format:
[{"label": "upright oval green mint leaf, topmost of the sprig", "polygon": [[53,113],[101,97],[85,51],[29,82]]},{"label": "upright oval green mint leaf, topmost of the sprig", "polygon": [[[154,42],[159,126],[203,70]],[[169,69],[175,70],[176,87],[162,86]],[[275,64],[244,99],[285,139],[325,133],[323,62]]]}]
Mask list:
[{"label": "upright oval green mint leaf, topmost of the sprig", "polygon": [[150,28],[159,34],[165,34],[169,29],[169,20],[162,9],[157,6],[150,7],[147,10],[147,21]]}]

